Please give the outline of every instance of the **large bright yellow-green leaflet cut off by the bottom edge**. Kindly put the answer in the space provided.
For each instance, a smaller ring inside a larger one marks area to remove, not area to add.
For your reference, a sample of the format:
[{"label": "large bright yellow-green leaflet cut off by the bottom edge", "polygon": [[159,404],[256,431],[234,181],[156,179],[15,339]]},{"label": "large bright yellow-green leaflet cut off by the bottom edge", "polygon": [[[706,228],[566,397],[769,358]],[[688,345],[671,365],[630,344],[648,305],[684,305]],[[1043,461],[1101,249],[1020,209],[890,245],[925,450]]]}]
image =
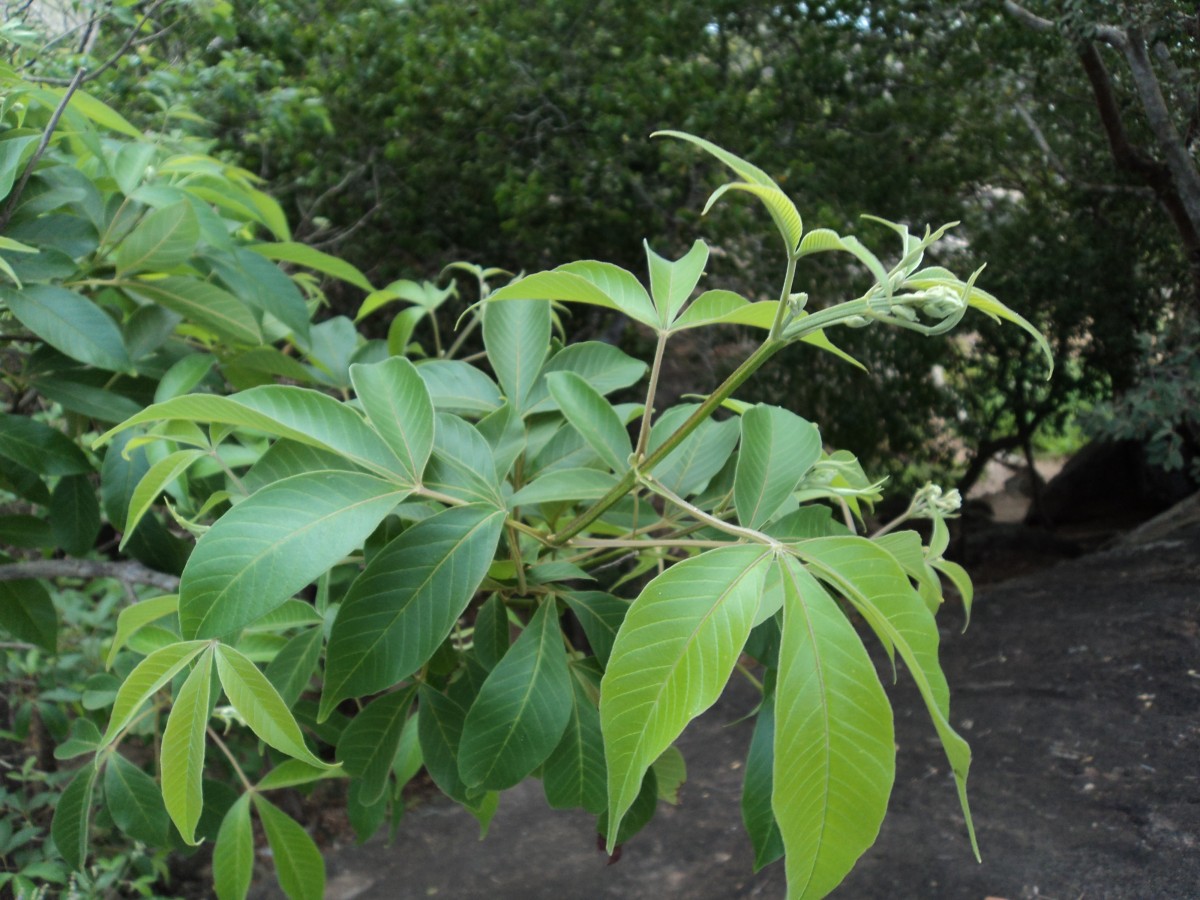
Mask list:
[{"label": "large bright yellow-green leaflet cut off by the bottom edge", "polygon": [[892,707],[862,640],[821,583],[784,568],[772,808],[787,895],[833,890],[875,842],[895,778]]}]

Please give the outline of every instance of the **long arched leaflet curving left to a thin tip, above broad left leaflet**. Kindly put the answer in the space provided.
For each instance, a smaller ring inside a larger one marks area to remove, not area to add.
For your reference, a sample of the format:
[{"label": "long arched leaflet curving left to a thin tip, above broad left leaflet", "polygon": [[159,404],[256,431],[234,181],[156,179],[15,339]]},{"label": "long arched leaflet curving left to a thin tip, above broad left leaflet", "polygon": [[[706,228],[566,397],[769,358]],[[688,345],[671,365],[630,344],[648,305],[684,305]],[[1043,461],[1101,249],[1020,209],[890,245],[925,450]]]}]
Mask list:
[{"label": "long arched leaflet curving left to a thin tip, above broad left leaflet", "polygon": [[232,397],[188,394],[146,407],[112,428],[102,444],[134,425],[163,420],[215,422],[263,431],[347,457],[384,478],[403,476],[403,466],[362,416],[344,403],[308,388],[263,385]]}]

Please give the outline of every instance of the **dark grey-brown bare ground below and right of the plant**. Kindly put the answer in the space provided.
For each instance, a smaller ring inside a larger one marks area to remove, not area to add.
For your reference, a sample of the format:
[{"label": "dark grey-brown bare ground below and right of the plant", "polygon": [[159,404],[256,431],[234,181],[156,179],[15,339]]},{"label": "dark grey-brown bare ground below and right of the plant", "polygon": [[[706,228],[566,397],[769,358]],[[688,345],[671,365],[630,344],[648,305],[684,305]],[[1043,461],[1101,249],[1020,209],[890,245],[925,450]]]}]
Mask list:
[{"label": "dark grey-brown bare ground below and right of the plant", "polygon": [[[971,742],[971,856],[946,760],[911,679],[890,690],[898,775],[876,845],[835,898],[1200,898],[1200,522],[1055,563],[1062,538],[971,536],[985,576],[972,623],[942,616],[952,721]],[[1016,552],[998,546],[1016,540]],[[1024,548],[1024,550],[1022,550]],[[971,562],[968,559],[968,562]],[[1050,565],[1050,568],[1040,568]],[[1032,571],[1031,571],[1032,570]],[[755,702],[734,688],[685,733],[689,781],[616,865],[586,815],[506,792],[491,833],[433,802],[396,841],[328,854],[330,900],[782,898],[781,864],[751,872],[739,816]],[[258,898],[280,896],[270,886]]]}]

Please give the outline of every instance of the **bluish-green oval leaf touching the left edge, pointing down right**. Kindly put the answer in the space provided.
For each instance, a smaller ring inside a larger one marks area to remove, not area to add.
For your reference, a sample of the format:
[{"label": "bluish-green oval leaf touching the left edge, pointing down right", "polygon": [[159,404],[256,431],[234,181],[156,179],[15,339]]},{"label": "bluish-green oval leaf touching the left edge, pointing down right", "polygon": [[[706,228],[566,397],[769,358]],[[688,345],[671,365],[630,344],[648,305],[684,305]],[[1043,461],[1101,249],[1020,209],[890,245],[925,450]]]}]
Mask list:
[{"label": "bluish-green oval leaf touching the left edge, pointing down right", "polygon": [[29,284],[24,290],[0,286],[0,300],[22,325],[71,359],[109,372],[133,368],[116,323],[73,290],[55,284]]}]

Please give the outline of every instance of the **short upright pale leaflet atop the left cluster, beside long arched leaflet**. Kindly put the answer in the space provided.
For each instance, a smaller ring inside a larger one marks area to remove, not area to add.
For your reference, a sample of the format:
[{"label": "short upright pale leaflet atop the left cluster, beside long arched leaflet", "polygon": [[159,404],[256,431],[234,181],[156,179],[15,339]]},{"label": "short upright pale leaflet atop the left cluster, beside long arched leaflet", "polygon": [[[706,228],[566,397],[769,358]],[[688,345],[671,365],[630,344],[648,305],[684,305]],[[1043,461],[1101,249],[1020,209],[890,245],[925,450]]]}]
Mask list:
[{"label": "short upright pale leaflet atop the left cluster, beside long arched leaflet", "polygon": [[416,367],[403,356],[350,366],[350,382],[376,431],[418,485],[433,450],[433,401]]}]

